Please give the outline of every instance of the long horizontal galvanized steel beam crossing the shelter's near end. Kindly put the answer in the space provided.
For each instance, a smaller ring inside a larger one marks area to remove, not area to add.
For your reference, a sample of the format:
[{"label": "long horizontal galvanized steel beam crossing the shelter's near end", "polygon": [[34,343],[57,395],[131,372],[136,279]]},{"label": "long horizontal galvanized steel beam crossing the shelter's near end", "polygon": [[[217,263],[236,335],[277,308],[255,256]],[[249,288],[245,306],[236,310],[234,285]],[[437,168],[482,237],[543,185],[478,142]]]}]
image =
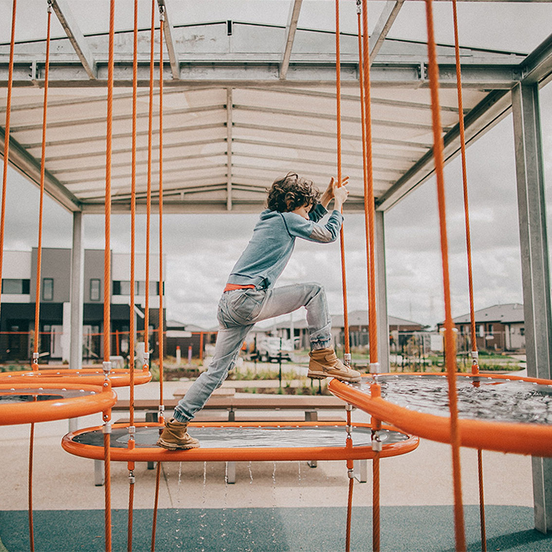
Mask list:
[{"label": "long horizontal galvanized steel beam crossing the shelter's near end", "polygon": [[[29,56],[16,56],[13,71],[14,87],[42,86],[44,79],[44,62]],[[357,54],[358,57],[358,54]],[[440,63],[439,83],[442,87],[456,86],[456,75],[453,59],[450,63]],[[97,60],[97,78],[90,79],[80,65],[72,61],[56,61],[50,67],[49,86],[57,88],[105,87],[107,84],[108,65],[105,60]],[[34,73],[31,69],[34,67]],[[507,88],[510,89],[519,80],[517,63],[470,65],[462,68],[463,86],[465,88]],[[312,59],[312,61],[296,60],[290,63],[285,81],[280,79],[279,63],[267,61],[266,57],[250,55],[250,59],[213,61],[187,61],[181,65],[181,79],[172,78],[168,67],[164,68],[164,79],[167,87],[181,87],[185,82],[187,89],[217,87],[217,88],[266,88],[282,87],[285,82],[288,87],[331,86],[335,84],[335,60]],[[413,60],[409,56],[405,61],[378,60],[370,69],[370,83],[373,87],[413,86],[427,88],[425,77],[427,62],[425,59]],[[144,63],[138,66],[138,86],[146,88],[149,85],[150,70]],[[342,60],[342,87],[358,88],[358,59],[346,56]],[[114,86],[132,86],[132,63],[120,60],[114,68]],[[0,87],[8,83],[8,59],[0,56]]]}]

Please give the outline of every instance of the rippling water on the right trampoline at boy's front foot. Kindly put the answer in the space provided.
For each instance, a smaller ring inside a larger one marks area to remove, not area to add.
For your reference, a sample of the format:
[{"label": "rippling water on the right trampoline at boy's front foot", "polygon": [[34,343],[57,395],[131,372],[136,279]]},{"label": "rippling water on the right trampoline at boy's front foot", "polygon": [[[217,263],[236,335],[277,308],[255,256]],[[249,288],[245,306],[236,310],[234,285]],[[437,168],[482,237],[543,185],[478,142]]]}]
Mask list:
[{"label": "rippling water on the right trampoline at boy's front foot", "polygon": [[[449,416],[445,375],[383,375],[378,377],[378,382],[386,401],[416,412]],[[370,393],[367,383],[351,385]],[[481,375],[460,376],[457,392],[460,418],[552,424],[552,386]]]}]

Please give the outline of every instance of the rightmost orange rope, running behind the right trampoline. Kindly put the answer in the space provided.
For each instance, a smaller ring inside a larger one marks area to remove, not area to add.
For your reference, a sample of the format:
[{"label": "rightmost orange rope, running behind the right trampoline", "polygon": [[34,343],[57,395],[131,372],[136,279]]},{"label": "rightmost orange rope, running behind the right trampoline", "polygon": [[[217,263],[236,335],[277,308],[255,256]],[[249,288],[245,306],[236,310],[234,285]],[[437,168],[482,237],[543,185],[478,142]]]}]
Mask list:
[{"label": "rightmost orange rope, running behind the right trampoline", "polygon": [[[464,219],[466,227],[466,255],[468,257],[468,289],[470,296],[470,328],[471,328],[471,351],[472,367],[474,374],[479,374],[479,364],[477,363],[477,338],[475,330],[475,306],[474,306],[474,280],[471,264],[471,233],[470,233],[470,211],[468,202],[468,171],[466,169],[466,137],[464,129],[464,105],[462,100],[462,75],[460,67],[460,41],[458,38],[458,13],[456,0],[452,2],[453,22],[454,22],[454,53],[456,59],[456,86],[458,95],[458,123],[460,128],[460,153],[462,160],[462,183],[464,192]],[[479,481],[479,520],[481,526],[481,550],[487,550],[487,539],[485,530],[485,496],[483,489],[483,459],[481,449],[477,450],[477,473]]]}]

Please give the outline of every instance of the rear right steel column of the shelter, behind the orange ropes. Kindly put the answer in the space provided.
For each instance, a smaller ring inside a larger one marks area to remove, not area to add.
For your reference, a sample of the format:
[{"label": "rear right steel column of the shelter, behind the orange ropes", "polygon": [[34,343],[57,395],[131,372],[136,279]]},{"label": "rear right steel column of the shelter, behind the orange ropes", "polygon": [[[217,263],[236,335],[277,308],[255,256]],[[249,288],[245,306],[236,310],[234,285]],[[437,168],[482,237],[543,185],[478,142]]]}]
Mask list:
[{"label": "rear right steel column of the shelter, behind the orange ropes", "polygon": [[376,320],[378,321],[378,359],[380,371],[389,371],[389,321],[387,317],[387,282],[385,274],[385,225],[384,212],[376,211],[375,259],[376,259]]}]

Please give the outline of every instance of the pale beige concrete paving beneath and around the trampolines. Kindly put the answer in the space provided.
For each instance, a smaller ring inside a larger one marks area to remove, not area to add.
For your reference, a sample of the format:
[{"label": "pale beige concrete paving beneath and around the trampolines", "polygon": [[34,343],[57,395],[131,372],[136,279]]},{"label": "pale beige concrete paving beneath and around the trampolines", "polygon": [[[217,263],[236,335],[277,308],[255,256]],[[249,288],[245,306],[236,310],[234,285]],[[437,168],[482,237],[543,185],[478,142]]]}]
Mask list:
[{"label": "pale beige concrete paving beneath and around the trampolines", "polygon": [[[164,395],[172,397],[172,392],[180,388],[182,382],[164,383]],[[120,389],[118,394],[120,398],[128,398],[129,390]],[[158,396],[157,383],[139,386],[135,390],[136,399],[155,397],[156,394]],[[116,413],[117,417],[124,415]],[[368,418],[363,412],[353,412],[353,421],[367,422]],[[99,426],[100,415],[79,418],[78,424],[79,427]],[[35,425],[35,512],[88,511],[104,507],[104,489],[94,486],[93,460],[73,457],[60,446],[61,437],[67,431],[67,420]],[[0,427],[4,469],[0,487],[0,519],[2,512],[23,511],[27,508],[28,440],[28,424]],[[486,504],[532,508],[530,458],[484,452],[483,459]],[[461,466],[464,504],[476,505],[479,503],[479,495],[475,450],[461,450]],[[297,461],[238,463],[236,483],[233,485],[225,482],[225,470],[226,465],[222,462],[164,463],[160,508],[195,508],[202,512],[209,509],[300,508],[306,512],[312,508],[344,508],[347,505],[348,477],[343,461],[321,461],[315,469],[309,468],[306,462]],[[370,471],[368,483],[355,484],[353,507],[371,506]],[[151,509],[155,470],[148,470],[146,464],[140,463],[136,466],[135,475],[134,507]],[[126,464],[112,463],[113,509],[128,507],[128,488]],[[452,505],[449,445],[422,440],[414,452],[382,460],[380,501],[385,507]],[[532,530],[530,523],[525,529]],[[102,530],[102,527],[98,527],[98,534]],[[424,528],[418,530],[423,532]],[[440,530],[450,533],[450,538],[454,539],[452,526]]]}]

